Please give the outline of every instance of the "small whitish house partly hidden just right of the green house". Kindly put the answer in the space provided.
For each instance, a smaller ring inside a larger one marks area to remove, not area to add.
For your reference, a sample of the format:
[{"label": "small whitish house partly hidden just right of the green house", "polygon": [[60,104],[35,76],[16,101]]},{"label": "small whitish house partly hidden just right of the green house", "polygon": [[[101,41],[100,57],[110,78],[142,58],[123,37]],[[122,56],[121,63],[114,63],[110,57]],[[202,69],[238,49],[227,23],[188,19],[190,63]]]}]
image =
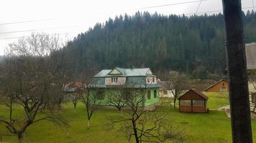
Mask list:
[{"label": "small whitish house partly hidden just right of the green house", "polygon": [[171,91],[171,85],[169,81],[160,81],[158,84],[160,85],[159,97],[173,97],[173,92]]}]

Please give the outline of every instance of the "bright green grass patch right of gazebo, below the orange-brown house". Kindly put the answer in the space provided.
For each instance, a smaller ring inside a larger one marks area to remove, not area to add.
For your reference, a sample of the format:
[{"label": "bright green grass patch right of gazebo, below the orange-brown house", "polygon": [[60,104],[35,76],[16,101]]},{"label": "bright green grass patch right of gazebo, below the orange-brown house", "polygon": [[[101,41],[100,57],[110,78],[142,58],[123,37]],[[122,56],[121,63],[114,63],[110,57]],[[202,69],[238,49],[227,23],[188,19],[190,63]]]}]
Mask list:
[{"label": "bright green grass patch right of gazebo, below the orange-brown house", "polygon": [[207,102],[208,109],[218,109],[229,105],[229,93],[228,92],[204,92],[209,97]]}]

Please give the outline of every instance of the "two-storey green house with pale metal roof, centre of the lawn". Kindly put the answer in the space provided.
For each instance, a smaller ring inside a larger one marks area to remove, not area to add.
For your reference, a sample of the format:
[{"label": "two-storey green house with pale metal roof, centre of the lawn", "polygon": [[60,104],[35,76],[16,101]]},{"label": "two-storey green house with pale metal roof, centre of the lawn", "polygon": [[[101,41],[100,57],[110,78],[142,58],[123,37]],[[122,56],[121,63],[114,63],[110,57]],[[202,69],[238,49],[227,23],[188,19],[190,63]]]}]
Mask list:
[{"label": "two-storey green house with pale metal roof, centre of the lawn", "polygon": [[159,102],[160,85],[150,68],[104,69],[93,76],[88,86],[91,89],[90,94],[96,96],[96,104],[102,107],[113,107],[113,102],[120,100],[138,102],[140,99],[140,107],[151,110]]}]

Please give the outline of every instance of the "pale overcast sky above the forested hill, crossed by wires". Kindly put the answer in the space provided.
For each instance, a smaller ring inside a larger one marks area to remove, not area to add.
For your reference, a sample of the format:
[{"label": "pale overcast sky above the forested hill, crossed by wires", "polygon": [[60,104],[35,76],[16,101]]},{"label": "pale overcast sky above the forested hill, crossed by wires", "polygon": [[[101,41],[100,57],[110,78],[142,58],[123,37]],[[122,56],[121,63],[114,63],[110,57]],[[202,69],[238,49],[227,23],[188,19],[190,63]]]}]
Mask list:
[{"label": "pale overcast sky above the forested hill, crossed by wires", "polygon": [[[73,39],[78,33],[109,17],[125,13],[131,15],[136,11],[194,14],[199,3],[196,0],[1,0],[0,55],[4,54],[9,43],[33,31],[61,34],[65,39]],[[252,0],[242,0],[242,7],[252,6]],[[221,0],[202,0],[198,14],[221,9]]]}]

